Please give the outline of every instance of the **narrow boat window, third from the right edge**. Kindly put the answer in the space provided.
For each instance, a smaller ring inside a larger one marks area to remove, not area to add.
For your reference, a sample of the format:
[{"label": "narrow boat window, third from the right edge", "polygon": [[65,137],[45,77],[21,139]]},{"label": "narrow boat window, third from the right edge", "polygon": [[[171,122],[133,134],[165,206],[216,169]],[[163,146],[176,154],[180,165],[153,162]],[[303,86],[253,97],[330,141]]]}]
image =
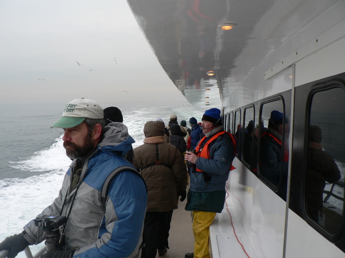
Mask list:
[{"label": "narrow boat window, third from the right edge", "polygon": [[[254,107],[244,109],[243,161],[252,167],[254,143]],[[256,139],[257,140],[257,139]],[[257,143],[257,141],[256,141]]]}]

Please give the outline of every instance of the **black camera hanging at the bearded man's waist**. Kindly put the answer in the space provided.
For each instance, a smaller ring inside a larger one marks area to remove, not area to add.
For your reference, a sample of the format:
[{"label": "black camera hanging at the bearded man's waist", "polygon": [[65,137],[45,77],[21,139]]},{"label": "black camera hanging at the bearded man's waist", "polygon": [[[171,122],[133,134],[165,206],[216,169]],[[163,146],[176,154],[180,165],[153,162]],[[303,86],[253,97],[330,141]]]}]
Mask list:
[{"label": "black camera hanging at the bearded man's waist", "polygon": [[63,250],[65,245],[65,236],[60,234],[60,226],[67,222],[65,216],[42,215],[35,219],[35,225],[42,227],[46,232],[47,251]]}]

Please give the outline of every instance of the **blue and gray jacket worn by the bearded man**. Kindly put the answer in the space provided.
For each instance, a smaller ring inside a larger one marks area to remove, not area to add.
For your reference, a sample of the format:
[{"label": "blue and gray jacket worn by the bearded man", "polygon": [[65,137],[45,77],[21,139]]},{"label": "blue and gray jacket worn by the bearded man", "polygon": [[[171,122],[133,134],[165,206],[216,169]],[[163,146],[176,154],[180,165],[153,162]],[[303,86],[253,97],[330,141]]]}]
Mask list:
[{"label": "blue and gray jacket worn by the bearded man", "polygon": [[[142,243],[147,193],[143,180],[134,172],[119,173],[110,184],[105,207],[101,191],[106,177],[120,166],[133,167],[122,156],[134,143],[123,123],[105,127],[104,139],[86,160],[78,187],[71,192],[71,168],[65,175],[58,198],[42,215],[70,215],[65,227],[66,249],[73,257],[135,257]],[[71,207],[72,200],[75,200]],[[30,244],[45,240],[45,232],[31,221],[24,227]]]}]

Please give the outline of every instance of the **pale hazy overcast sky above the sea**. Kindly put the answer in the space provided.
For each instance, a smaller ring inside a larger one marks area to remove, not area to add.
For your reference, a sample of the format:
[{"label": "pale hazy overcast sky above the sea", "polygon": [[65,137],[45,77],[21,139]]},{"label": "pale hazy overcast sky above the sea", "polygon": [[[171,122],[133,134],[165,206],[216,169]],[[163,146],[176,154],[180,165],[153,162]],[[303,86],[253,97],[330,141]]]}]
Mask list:
[{"label": "pale hazy overcast sky above the sea", "polygon": [[1,103],[186,101],[126,0],[0,0],[0,24]]}]

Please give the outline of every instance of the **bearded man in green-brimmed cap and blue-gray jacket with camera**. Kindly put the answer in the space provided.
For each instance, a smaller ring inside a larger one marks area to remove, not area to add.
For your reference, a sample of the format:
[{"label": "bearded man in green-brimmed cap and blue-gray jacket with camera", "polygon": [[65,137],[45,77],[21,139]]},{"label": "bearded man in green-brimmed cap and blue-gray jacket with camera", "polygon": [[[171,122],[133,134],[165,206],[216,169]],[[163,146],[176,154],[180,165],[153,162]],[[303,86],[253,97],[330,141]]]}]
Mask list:
[{"label": "bearded man in green-brimmed cap and blue-gray jacket with camera", "polygon": [[[129,169],[120,172],[108,185],[106,201],[101,198],[111,172],[122,166],[133,168],[122,156],[134,140],[124,124],[104,128],[103,117],[103,108],[95,101],[75,99],[52,126],[64,129],[64,147],[73,161],[59,196],[38,216],[65,216],[67,220],[58,229],[61,239],[65,238],[62,250],[48,249],[43,258],[140,256],[147,204],[142,177]],[[33,220],[22,233],[5,238],[0,251],[15,257],[44,239],[46,232]]]}]

